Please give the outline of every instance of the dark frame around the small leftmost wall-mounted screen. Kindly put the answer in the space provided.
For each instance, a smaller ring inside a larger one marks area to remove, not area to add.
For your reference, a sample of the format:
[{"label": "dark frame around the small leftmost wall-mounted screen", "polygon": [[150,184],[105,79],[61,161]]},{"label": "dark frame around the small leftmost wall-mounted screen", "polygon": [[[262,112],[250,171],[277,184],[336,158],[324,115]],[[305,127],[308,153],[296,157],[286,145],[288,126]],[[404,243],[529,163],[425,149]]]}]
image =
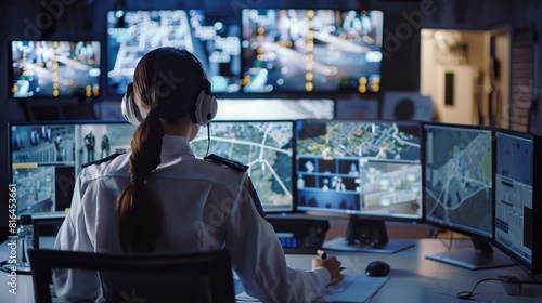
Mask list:
[{"label": "dark frame around the small leftmost wall-mounted screen", "polygon": [[[96,95],[92,94],[90,96],[87,96],[85,94],[60,94],[57,96],[53,96],[53,95],[33,95],[33,96],[21,96],[21,97],[17,97],[17,96],[14,96],[14,94],[12,93],[11,89],[14,84],[14,73],[12,70],[13,68],[13,43],[14,42],[37,42],[37,41],[40,41],[40,42],[68,42],[68,43],[77,43],[77,42],[91,42],[91,43],[98,43],[98,51],[99,51],[99,57],[100,57],[100,62],[98,65],[95,65],[95,68],[100,69],[100,75],[96,77],[98,78],[98,85],[99,85],[99,92]],[[9,66],[8,66],[8,90],[7,90],[7,94],[8,94],[8,97],[10,100],[14,100],[14,101],[17,101],[17,102],[41,102],[41,101],[65,101],[65,100],[77,100],[77,101],[85,101],[85,100],[91,100],[91,101],[94,101],[94,100],[98,100],[100,97],[102,97],[104,95],[103,93],[103,88],[102,88],[102,75],[103,75],[103,67],[104,67],[104,64],[103,64],[103,42],[102,40],[98,40],[98,39],[35,39],[35,40],[29,40],[29,39],[8,39],[7,40],[7,48],[8,48],[8,63],[9,63]]]}]

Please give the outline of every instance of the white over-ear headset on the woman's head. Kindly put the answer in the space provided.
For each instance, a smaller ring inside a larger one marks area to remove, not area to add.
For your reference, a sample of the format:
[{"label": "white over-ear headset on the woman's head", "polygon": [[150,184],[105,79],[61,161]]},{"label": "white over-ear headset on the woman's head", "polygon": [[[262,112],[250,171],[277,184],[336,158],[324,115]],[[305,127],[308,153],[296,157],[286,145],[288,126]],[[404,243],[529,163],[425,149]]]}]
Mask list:
[{"label": "white over-ear headset on the woman's head", "polygon": [[[191,52],[186,50],[180,50],[182,53],[189,55],[192,60],[194,60],[199,68],[202,69],[202,74],[204,75],[204,80],[206,82],[206,88],[199,92],[197,95],[197,100],[195,101],[195,108],[191,113],[192,121],[198,126],[207,126],[214,118],[217,116],[218,111],[218,102],[217,98],[210,92],[210,82],[207,79],[207,74],[203,68],[202,62],[197,60]],[[133,83],[130,83],[126,87],[126,93],[122,97],[122,102],[120,104],[120,110],[122,111],[122,117],[125,119],[134,124],[139,126],[145,119],[149,113],[141,113],[142,110],[139,106],[133,102]]]}]

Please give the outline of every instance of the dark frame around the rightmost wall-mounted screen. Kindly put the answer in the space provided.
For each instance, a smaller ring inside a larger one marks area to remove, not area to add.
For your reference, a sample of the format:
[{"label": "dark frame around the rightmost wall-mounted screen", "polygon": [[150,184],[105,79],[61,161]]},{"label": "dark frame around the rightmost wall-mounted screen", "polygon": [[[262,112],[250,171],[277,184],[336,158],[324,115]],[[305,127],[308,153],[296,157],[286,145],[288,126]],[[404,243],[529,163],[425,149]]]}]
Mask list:
[{"label": "dark frame around the rightmost wall-mounted screen", "polygon": [[[374,90],[366,90],[365,92],[360,92],[360,91],[357,91],[357,90],[341,90],[341,89],[337,89],[337,90],[330,90],[330,91],[326,91],[326,90],[312,90],[310,92],[308,91],[305,91],[302,89],[300,90],[285,90],[285,89],[281,89],[281,90],[273,90],[271,92],[254,92],[254,91],[245,91],[245,85],[243,84],[243,78],[245,77],[245,73],[247,70],[245,70],[247,66],[249,66],[249,64],[253,62],[251,60],[248,60],[246,54],[245,54],[245,50],[247,48],[243,47],[243,43],[245,41],[245,35],[244,35],[244,31],[245,29],[243,28],[243,12],[244,11],[251,11],[251,10],[256,10],[256,11],[281,11],[281,10],[313,10],[313,11],[334,11],[334,12],[339,12],[339,13],[343,13],[343,12],[349,12],[349,11],[356,11],[356,12],[362,12],[362,11],[365,11],[365,12],[379,12],[382,14],[382,24],[380,24],[380,28],[382,28],[382,36],[379,37],[379,39],[383,41],[384,40],[384,26],[385,26],[385,11],[379,9],[379,8],[363,8],[363,9],[358,9],[358,8],[354,8],[354,9],[346,9],[346,8],[330,8],[330,6],[323,6],[323,8],[319,8],[318,5],[315,6],[295,6],[295,8],[276,8],[276,6],[269,6],[269,8],[241,8],[238,9],[238,12],[237,12],[237,15],[238,15],[238,22],[240,22],[240,26],[241,26],[241,52],[242,52],[242,55],[241,55],[241,90],[240,90],[240,93],[244,93],[244,94],[254,94],[256,95],[256,97],[258,95],[263,95],[263,94],[268,94],[268,93],[273,93],[273,94],[286,94],[286,95],[301,95],[300,97],[305,97],[307,95],[319,95],[319,96],[322,96],[324,98],[335,98],[335,95],[337,93],[353,93],[353,94],[361,94],[363,96],[367,96],[367,97],[374,97],[374,96],[379,96],[383,92],[383,63],[385,62],[386,60],[386,56],[384,55],[384,50],[383,50],[383,45],[380,47],[380,53],[382,53],[382,60],[379,62],[379,69],[378,69],[378,79],[379,79],[379,90],[377,91],[374,91]],[[249,48],[248,48],[249,49]],[[369,79],[367,79],[369,81]]]}]

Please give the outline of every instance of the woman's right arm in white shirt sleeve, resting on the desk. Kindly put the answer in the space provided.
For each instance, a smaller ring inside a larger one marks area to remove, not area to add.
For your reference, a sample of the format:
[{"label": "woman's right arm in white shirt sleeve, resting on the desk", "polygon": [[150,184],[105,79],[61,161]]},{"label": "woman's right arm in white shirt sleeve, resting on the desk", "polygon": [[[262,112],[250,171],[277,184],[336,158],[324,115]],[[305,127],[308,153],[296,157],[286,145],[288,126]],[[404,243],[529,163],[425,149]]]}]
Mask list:
[{"label": "woman's right arm in white shirt sleeve, resting on the desk", "polygon": [[330,272],[289,268],[273,226],[260,208],[251,181],[246,177],[232,205],[225,239],[245,291],[262,302],[313,301],[330,284]]}]

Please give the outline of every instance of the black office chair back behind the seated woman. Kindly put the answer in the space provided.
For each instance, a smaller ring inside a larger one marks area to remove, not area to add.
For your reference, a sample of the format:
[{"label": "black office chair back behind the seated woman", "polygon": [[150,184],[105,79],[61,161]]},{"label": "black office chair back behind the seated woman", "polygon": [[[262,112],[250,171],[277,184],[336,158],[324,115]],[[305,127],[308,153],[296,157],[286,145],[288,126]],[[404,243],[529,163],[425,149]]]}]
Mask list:
[{"label": "black office chair back behind the seated woman", "polygon": [[[104,302],[235,302],[230,253],[111,254],[51,249],[28,251],[36,303],[52,301],[52,273],[99,275]],[[137,300],[137,301],[134,301]]]}]

